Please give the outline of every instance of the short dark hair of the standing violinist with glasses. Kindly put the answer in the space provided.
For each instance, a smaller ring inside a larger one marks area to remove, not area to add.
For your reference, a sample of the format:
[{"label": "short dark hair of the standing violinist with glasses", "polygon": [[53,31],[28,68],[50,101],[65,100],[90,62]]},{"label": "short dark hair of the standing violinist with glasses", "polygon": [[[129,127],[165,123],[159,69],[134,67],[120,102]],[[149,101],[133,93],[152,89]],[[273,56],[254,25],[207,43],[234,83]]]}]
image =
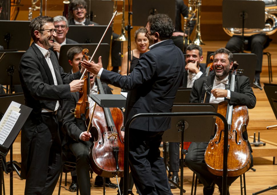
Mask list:
[{"label": "short dark hair of the standing violinist with glasses", "polygon": [[38,16],[36,18],[34,18],[30,25],[29,25],[29,31],[30,31],[30,35],[32,37],[32,39],[35,41],[36,40],[36,36],[34,34],[35,31],[41,31],[42,27],[46,24],[46,23],[53,23],[54,19],[52,17],[49,16]]}]

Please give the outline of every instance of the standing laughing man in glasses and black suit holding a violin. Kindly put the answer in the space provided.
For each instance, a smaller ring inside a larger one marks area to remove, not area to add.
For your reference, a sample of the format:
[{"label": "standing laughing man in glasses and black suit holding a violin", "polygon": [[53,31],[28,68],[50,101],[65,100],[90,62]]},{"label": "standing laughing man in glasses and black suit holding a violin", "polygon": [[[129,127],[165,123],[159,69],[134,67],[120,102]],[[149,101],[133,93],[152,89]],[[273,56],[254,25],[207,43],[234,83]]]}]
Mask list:
[{"label": "standing laughing man in glasses and black suit holding a violin", "polygon": [[33,110],[21,130],[21,177],[26,179],[25,194],[52,194],[61,171],[59,101],[79,91],[83,81],[74,80],[80,71],[64,73],[49,51],[56,37],[52,17],[34,18],[29,30],[34,42],[21,58],[19,77],[25,105]]}]

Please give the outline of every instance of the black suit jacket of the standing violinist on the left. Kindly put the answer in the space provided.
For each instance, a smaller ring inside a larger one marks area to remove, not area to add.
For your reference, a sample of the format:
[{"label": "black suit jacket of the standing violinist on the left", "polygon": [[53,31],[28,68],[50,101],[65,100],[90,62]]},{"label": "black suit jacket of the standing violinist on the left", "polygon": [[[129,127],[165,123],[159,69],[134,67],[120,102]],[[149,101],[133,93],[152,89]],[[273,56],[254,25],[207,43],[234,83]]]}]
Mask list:
[{"label": "black suit jacket of the standing violinist on the left", "polygon": [[50,59],[58,85],[54,85],[51,70],[35,43],[32,43],[20,60],[19,77],[25,105],[33,108],[33,113],[41,113],[42,108],[54,110],[57,100],[70,98],[68,84],[81,77],[80,72],[72,75],[65,73],[53,52],[50,52]]}]

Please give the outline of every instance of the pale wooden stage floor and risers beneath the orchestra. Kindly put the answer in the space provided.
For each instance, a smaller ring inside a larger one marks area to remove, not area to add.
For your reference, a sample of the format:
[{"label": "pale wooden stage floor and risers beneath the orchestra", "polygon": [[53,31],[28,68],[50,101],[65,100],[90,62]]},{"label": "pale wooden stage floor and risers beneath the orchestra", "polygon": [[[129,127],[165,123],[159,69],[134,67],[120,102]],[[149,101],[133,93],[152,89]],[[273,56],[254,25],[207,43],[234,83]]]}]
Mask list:
[{"label": "pale wooden stage floor and risers beneath the orchestra", "polygon": [[[203,46],[203,55],[204,61],[206,60],[206,52],[207,51],[215,51],[220,47],[225,47],[226,41],[204,41],[205,46]],[[124,45],[125,51],[127,51],[126,45]],[[134,48],[132,46],[132,48]],[[265,51],[270,52],[272,55],[272,69],[273,69],[273,83],[277,83],[277,44],[271,44]],[[268,66],[267,66],[267,59],[264,57],[263,60],[263,72],[261,74],[261,83],[268,83]],[[263,84],[262,84],[263,85]],[[118,94],[120,89],[113,87],[113,93]],[[269,102],[266,98],[264,90],[260,89],[253,89],[256,98],[257,104],[254,109],[249,110],[249,124],[248,124],[248,136],[252,136],[254,132],[260,131],[261,139],[267,140],[268,143],[273,144],[273,150],[270,150],[268,153],[267,150],[262,150],[260,147],[254,148],[254,168],[256,172],[252,170],[246,172],[246,192],[247,194],[252,194],[254,192],[260,191],[264,188],[268,188],[269,186],[277,185],[277,165],[273,165],[273,157],[275,155],[274,152],[277,152],[275,148],[277,148],[277,130],[270,129],[266,130],[266,126],[277,124],[276,118],[273,114],[273,111],[269,105]],[[20,135],[16,139],[14,146],[13,146],[13,158],[18,162],[21,161],[20,156]],[[252,141],[252,139],[250,139]],[[270,144],[266,146],[269,147]],[[274,145],[275,144],[275,145]],[[255,157],[257,156],[257,157]],[[262,157],[260,157],[262,156]],[[268,156],[268,157],[267,157]],[[271,157],[270,157],[271,156]],[[276,153],[277,156],[277,153]],[[7,158],[7,160],[9,157]],[[180,173],[180,172],[179,172]],[[39,176],[38,176],[39,177]],[[5,189],[6,194],[9,194],[9,175],[4,174],[5,178]],[[64,176],[63,176],[63,184],[64,184]],[[95,174],[93,174],[93,179],[91,179],[91,184],[94,184]],[[111,179],[112,182],[116,182],[114,178]],[[190,194],[191,189],[191,182],[192,182],[192,172],[188,168],[184,168],[184,189],[186,190],[185,194]],[[69,176],[68,179],[68,186],[71,183],[71,178]],[[13,177],[13,194],[15,195],[22,195],[24,194],[24,187],[25,181],[20,180],[19,176],[14,172]],[[68,187],[67,186],[67,187]],[[198,184],[196,194],[200,195],[202,193],[203,186],[202,184]],[[136,192],[135,188],[133,191]],[[173,194],[180,194],[178,189],[172,190]],[[58,184],[55,188],[54,194],[58,194]],[[75,194],[64,189],[61,189],[61,194]],[[91,187],[91,194],[103,194],[103,188]],[[117,190],[106,188],[107,195],[115,195],[117,194]],[[215,189],[214,194],[219,194],[217,192],[217,188]],[[240,194],[240,180],[236,180],[232,186],[230,187],[230,194],[237,195]],[[270,190],[268,192],[264,192],[265,195],[275,195],[277,194],[277,190]]]}]

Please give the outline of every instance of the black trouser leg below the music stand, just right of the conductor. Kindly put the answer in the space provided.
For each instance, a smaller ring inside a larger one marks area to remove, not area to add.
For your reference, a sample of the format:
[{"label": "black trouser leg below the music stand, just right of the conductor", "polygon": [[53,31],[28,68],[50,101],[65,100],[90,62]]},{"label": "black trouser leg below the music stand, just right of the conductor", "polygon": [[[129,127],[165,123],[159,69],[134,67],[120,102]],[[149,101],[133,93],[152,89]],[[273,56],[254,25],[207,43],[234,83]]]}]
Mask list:
[{"label": "black trouser leg below the music stand, just right of the conductor", "polygon": [[169,172],[179,172],[180,166],[180,143],[169,142]]}]

